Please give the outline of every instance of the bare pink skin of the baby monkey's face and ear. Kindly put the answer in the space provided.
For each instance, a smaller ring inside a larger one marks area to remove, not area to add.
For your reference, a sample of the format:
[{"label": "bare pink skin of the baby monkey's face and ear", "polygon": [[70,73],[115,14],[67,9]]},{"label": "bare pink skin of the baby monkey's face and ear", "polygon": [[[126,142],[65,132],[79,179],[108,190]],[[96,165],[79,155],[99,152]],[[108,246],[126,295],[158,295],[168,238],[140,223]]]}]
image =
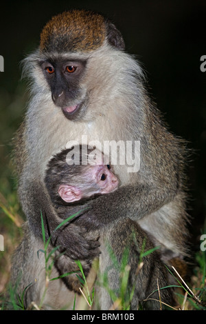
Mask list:
[{"label": "bare pink skin of the baby monkey's face and ear", "polygon": [[[80,189],[74,185],[62,184],[58,189],[58,194],[67,203],[87,198],[93,194],[108,194],[117,189],[119,181],[111,172],[109,165],[91,165],[88,172],[88,182],[93,183],[93,190],[89,194],[84,193],[84,189]],[[87,185],[87,183],[86,183]],[[89,184],[88,184],[89,186]],[[82,185],[83,187],[83,185]]]}]

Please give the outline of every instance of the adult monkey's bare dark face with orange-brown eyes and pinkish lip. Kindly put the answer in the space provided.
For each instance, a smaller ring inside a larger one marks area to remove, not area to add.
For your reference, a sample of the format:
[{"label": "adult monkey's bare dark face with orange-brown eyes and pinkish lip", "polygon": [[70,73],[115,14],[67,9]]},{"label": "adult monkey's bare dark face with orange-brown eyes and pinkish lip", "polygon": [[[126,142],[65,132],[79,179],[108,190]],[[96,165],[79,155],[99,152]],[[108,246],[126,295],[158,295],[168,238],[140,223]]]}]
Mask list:
[{"label": "adult monkey's bare dark face with orange-brown eyes and pinkish lip", "polygon": [[40,61],[41,69],[52,92],[54,104],[67,119],[76,119],[85,108],[87,95],[80,88],[87,60],[47,59]]}]

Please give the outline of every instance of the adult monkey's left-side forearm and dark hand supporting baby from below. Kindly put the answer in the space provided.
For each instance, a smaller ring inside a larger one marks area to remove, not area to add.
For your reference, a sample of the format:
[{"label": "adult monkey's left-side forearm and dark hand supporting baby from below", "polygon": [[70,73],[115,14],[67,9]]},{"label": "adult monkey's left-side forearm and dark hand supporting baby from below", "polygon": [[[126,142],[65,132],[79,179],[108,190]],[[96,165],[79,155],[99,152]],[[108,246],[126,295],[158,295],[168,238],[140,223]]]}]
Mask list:
[{"label": "adult monkey's left-side forearm and dark hand supporting baby from below", "polygon": [[[47,190],[41,181],[27,179],[24,183],[20,183],[19,194],[21,201],[23,201],[23,211],[35,235],[42,237],[42,214],[46,239],[51,236],[52,245],[60,245],[60,251],[65,251],[65,254],[69,255],[71,259],[81,260],[99,255],[100,243],[94,241],[91,237],[89,239],[87,239],[87,236],[85,237],[85,227],[67,223],[56,230],[56,227],[62,223],[62,219],[56,214],[49,194],[47,194]],[[71,212],[70,215],[72,214]]]}]

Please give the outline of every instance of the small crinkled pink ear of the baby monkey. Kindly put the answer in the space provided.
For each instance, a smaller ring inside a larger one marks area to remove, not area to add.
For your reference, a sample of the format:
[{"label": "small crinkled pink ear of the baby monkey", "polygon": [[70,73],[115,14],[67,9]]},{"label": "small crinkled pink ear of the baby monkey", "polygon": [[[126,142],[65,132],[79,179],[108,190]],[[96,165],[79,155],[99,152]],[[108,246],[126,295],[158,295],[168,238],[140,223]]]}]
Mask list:
[{"label": "small crinkled pink ear of the baby monkey", "polygon": [[78,201],[82,198],[81,190],[73,185],[60,185],[58,188],[58,194],[61,199],[67,203],[72,203],[73,201]]}]

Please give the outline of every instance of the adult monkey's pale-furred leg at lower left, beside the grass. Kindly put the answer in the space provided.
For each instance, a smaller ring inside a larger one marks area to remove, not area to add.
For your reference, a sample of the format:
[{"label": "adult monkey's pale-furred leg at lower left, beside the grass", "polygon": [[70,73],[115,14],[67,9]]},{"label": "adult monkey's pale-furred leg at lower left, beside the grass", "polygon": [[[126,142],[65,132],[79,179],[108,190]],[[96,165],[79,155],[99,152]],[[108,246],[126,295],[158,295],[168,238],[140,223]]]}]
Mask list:
[{"label": "adult monkey's pale-furred leg at lower left, beside the grass", "polygon": [[[51,249],[52,246],[47,254]],[[52,259],[45,263],[45,255],[41,250],[44,250],[43,242],[32,234],[25,223],[25,236],[12,259],[10,283],[16,295],[16,303],[19,304],[17,296],[21,298],[25,290],[25,309],[39,307],[43,310],[59,310],[64,307],[72,310],[74,293],[68,290],[61,279],[49,280],[58,277],[59,273],[54,266],[49,272]]]}]

